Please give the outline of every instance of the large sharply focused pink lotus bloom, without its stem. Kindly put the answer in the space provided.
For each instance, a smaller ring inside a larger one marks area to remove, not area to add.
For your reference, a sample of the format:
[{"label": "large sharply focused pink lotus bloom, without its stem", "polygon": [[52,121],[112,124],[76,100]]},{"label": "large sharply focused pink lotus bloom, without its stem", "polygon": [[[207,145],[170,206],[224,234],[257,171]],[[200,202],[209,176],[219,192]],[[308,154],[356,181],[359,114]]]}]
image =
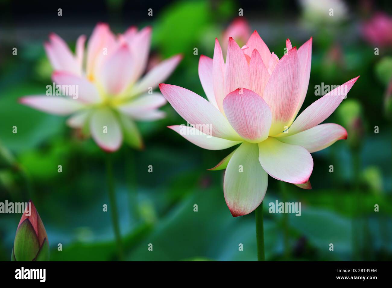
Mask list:
[{"label": "large sharply focused pink lotus bloom, without its stem", "polygon": [[312,38],[298,51],[287,39],[287,49],[279,59],[254,31],[243,49],[229,39],[224,62],[216,39],[214,58],[201,55],[199,61],[200,82],[209,101],[182,87],[159,85],[167,101],[192,125],[170,129],[204,149],[241,144],[210,169],[226,168],[223,191],[233,216],[249,214],[260,205],[268,174],[310,188],[310,153],[347,138],[340,125],[319,124],[358,77],[325,94],[296,118],[309,85]]}]

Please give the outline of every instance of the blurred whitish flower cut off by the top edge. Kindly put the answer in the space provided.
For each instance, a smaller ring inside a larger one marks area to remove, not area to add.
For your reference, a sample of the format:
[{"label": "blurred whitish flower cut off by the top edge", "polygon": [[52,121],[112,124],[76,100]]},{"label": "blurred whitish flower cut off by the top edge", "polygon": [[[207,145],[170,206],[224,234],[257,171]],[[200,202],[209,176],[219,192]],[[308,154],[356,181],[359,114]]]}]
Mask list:
[{"label": "blurred whitish flower cut off by the top edge", "polygon": [[299,4],[303,18],[314,24],[337,23],[347,18],[347,5],[341,0],[299,0]]}]

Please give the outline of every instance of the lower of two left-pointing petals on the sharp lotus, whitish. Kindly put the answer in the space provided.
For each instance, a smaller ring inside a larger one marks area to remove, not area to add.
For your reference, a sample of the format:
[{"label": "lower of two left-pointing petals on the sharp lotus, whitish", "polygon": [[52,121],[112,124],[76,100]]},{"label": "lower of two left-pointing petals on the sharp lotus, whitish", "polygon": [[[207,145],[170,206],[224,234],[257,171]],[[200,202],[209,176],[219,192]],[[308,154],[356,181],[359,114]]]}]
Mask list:
[{"label": "lower of two left-pointing petals on the sharp lotus, whitish", "polygon": [[208,150],[223,150],[241,143],[241,141],[231,141],[214,137],[209,134],[205,134],[194,127],[189,127],[185,125],[168,126],[168,128],[176,131],[183,138],[187,139],[194,145]]}]

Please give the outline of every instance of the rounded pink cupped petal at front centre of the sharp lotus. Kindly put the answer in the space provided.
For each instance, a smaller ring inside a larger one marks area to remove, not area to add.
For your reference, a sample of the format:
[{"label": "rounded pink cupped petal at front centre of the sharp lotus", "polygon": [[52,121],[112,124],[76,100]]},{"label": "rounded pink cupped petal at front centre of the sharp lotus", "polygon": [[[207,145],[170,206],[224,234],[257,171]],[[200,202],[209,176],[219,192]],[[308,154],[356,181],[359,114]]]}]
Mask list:
[{"label": "rounded pink cupped petal at front centre of the sharp lotus", "polygon": [[227,120],[236,132],[250,143],[259,143],[268,138],[271,127],[271,110],[255,92],[237,89],[223,100]]}]

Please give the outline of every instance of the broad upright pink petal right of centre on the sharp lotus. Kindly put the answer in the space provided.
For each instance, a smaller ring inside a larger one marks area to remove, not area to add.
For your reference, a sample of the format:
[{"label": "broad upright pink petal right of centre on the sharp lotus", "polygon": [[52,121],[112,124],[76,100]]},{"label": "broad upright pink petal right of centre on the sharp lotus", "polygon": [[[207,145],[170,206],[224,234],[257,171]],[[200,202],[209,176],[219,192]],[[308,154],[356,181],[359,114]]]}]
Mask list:
[{"label": "broad upright pink petal right of centre on the sharp lotus", "polygon": [[294,120],[294,112],[299,102],[300,84],[301,72],[297,50],[294,47],[279,60],[263,94],[263,99],[272,112],[270,135],[279,134]]}]

